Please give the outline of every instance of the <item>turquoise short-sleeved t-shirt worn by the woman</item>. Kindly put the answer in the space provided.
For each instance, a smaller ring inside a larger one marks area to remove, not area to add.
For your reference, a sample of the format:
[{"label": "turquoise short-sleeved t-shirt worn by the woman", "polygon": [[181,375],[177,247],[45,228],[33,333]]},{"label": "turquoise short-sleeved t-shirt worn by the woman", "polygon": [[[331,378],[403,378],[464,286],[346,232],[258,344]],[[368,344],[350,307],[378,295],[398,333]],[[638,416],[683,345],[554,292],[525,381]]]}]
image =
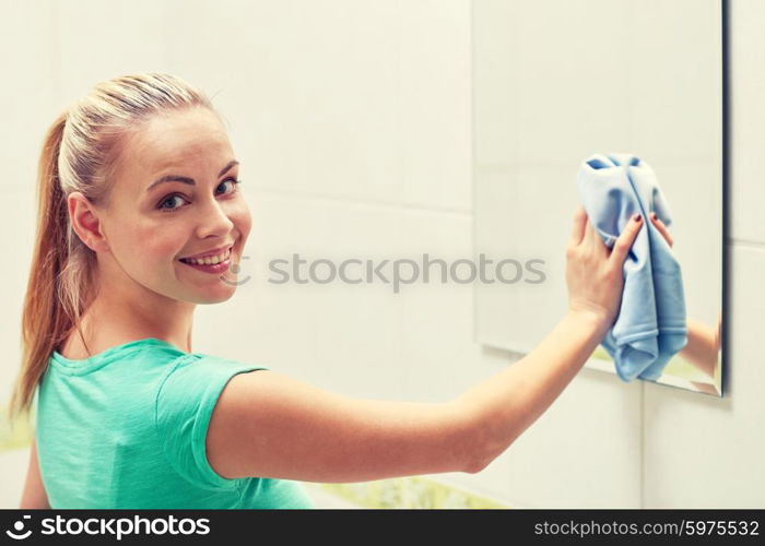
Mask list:
[{"label": "turquoise short-sleeved t-shirt worn by the woman", "polygon": [[54,509],[313,508],[301,484],[226,479],[207,458],[215,402],[237,373],[267,369],[184,353],[154,337],[84,360],[54,352],[35,437]]}]

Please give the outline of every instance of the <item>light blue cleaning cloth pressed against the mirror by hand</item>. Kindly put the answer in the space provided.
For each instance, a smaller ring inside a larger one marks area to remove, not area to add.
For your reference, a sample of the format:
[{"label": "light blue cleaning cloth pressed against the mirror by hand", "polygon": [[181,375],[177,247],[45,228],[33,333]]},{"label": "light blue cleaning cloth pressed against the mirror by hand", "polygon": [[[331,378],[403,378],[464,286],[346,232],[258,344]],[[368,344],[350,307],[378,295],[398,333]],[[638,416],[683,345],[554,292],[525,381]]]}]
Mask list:
[{"label": "light blue cleaning cloth pressed against the mirror by hand", "polygon": [[593,155],[577,176],[582,206],[608,247],[635,213],[643,228],[624,261],[624,292],[619,316],[601,342],[624,381],[656,381],[669,359],[687,343],[685,297],[680,264],[661,233],[670,212],[654,170],[631,154]]}]

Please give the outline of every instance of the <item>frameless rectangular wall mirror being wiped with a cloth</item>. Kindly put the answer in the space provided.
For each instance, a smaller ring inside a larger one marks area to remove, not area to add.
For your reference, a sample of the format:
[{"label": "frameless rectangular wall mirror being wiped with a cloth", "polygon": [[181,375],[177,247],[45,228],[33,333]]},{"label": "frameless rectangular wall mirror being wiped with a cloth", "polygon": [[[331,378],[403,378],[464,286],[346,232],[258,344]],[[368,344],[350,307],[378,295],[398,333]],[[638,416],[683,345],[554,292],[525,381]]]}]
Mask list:
[{"label": "frameless rectangular wall mirror being wiped with a cloth", "polygon": [[[721,396],[721,0],[474,0],[472,24],[476,260],[542,271],[475,284],[476,341],[528,353],[565,314],[579,169],[633,154],[671,211],[688,335],[652,381]],[[615,372],[603,345],[586,366]]]}]

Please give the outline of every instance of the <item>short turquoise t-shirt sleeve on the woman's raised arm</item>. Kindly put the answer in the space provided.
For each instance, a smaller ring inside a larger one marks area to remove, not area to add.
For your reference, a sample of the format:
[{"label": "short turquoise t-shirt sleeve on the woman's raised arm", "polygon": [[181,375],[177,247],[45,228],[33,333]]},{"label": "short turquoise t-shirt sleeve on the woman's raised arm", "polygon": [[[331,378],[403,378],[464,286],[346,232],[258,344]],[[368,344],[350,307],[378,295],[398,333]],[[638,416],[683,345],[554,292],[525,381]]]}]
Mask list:
[{"label": "short turquoise t-shirt sleeve on the woman's raised arm", "polygon": [[210,418],[223,388],[237,373],[264,370],[226,358],[191,355],[181,358],[161,382],[155,423],[165,455],[187,480],[205,489],[231,489],[236,479],[215,473],[208,461],[205,439]]}]

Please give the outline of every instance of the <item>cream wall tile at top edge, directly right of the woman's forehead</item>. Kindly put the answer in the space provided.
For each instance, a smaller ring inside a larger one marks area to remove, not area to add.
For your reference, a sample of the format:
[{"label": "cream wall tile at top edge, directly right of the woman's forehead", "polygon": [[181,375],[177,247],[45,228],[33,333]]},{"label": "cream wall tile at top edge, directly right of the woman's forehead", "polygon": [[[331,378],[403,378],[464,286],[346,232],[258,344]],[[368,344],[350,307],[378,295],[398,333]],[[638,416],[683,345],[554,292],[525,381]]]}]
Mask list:
[{"label": "cream wall tile at top edge, directly right of the woman's forehead", "polygon": [[183,5],[166,21],[196,39],[169,44],[172,66],[221,90],[215,103],[236,126],[250,183],[401,202],[397,2]]}]

